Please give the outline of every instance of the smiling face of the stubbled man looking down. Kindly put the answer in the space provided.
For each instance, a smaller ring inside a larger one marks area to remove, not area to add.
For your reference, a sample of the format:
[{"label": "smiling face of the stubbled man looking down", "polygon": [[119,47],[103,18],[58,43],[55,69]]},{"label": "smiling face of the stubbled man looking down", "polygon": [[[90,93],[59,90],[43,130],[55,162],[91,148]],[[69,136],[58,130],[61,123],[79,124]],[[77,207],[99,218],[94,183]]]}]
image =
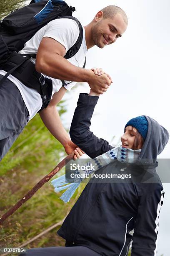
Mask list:
[{"label": "smiling face of the stubbled man looking down", "polygon": [[114,18],[99,18],[92,28],[92,40],[100,48],[114,43],[126,31],[127,24],[122,15],[117,13]]}]

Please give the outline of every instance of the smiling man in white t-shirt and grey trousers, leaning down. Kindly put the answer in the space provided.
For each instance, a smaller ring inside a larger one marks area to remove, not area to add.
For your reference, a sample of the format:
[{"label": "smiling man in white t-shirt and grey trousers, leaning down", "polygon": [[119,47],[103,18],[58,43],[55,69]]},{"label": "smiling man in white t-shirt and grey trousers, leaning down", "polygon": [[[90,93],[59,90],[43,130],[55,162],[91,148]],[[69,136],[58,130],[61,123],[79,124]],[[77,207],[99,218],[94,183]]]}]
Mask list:
[{"label": "smiling man in white t-shirt and grey trousers, leaning down", "polygon": [[[40,117],[52,135],[62,143],[66,153],[74,151],[75,158],[82,152],[70,140],[62,126],[56,105],[76,82],[87,82],[90,88],[99,94],[107,90],[111,84],[109,75],[96,76],[93,71],[82,68],[85,54],[92,46],[103,48],[114,43],[125,32],[127,25],[125,12],[111,5],[100,10],[83,28],[82,45],[72,58],[67,60],[63,56],[75,44],[79,28],[74,20],[67,18],[50,21],[26,42],[23,50],[19,52],[37,54],[36,60],[31,59],[35,63],[36,71],[52,80],[52,100],[47,108],[40,111]],[[0,70],[0,79],[5,74],[5,71]],[[61,80],[65,81],[64,86]],[[36,90],[26,87],[16,77],[9,75],[0,86],[0,102],[1,160],[28,121],[41,109],[42,98]]]}]

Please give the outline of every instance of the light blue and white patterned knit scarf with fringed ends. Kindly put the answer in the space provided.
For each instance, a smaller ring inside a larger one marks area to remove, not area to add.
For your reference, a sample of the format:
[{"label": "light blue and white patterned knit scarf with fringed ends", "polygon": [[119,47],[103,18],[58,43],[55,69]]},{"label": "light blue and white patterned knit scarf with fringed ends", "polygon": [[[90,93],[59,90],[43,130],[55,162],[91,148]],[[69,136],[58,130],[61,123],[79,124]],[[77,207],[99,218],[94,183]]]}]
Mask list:
[{"label": "light blue and white patterned knit scarf with fringed ends", "polygon": [[[122,163],[127,163],[127,164],[133,164],[135,161],[138,159],[140,155],[141,149],[133,150],[130,148],[123,148],[121,146],[112,148],[110,151],[107,151],[105,154],[102,154],[100,156],[97,156],[94,159],[91,159],[90,161],[87,162],[86,166],[89,166],[90,164],[93,167],[94,170],[75,170],[71,171],[70,173],[74,174],[90,174],[94,173],[101,167],[110,164],[112,161],[117,159],[117,161],[120,161]],[[76,176],[76,175],[75,175]],[[83,175],[85,177],[85,175]],[[70,179],[70,182],[65,180],[65,174],[58,177],[57,179],[53,179],[51,184],[53,185],[55,192],[59,192],[61,190],[67,189],[60,199],[63,202],[69,202],[70,198],[74,194],[75,190],[77,187],[79,187],[80,183],[82,182],[83,178],[75,178],[75,179]]]}]

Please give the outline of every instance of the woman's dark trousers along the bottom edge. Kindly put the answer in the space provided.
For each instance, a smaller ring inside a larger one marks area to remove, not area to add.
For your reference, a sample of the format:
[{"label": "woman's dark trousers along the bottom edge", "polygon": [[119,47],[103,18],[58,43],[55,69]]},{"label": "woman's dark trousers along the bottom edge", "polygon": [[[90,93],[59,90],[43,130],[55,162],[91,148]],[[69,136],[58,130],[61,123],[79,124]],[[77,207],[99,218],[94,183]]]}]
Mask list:
[{"label": "woman's dark trousers along the bottom edge", "polygon": [[33,248],[20,256],[99,256],[85,246]]}]

